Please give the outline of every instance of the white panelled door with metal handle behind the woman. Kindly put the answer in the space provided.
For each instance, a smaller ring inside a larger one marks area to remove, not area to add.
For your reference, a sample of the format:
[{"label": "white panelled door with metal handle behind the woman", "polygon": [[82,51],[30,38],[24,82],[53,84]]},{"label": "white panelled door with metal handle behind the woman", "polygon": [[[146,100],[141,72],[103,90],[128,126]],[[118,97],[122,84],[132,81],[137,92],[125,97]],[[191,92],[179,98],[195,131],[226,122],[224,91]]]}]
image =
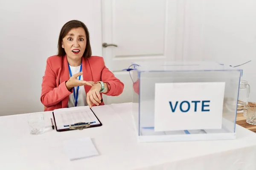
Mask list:
[{"label": "white panelled door with metal handle behind the woman", "polygon": [[102,0],[102,42],[109,45],[102,47],[103,57],[125,84],[119,97],[104,97],[106,104],[132,101],[132,80],[121,71],[131,62],[175,60],[182,32],[176,11],[176,0]]}]

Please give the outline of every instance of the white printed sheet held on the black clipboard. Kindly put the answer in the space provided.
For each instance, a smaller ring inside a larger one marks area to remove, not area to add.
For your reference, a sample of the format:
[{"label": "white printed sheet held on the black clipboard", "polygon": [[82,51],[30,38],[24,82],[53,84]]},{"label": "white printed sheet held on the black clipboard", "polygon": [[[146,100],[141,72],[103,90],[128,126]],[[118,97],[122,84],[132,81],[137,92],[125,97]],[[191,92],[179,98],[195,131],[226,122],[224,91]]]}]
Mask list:
[{"label": "white printed sheet held on the black clipboard", "polygon": [[[53,111],[57,129],[67,129],[75,123],[84,122],[90,125],[99,125],[100,122],[90,110],[89,106],[80,106],[73,108],[61,108]],[[64,126],[65,125],[65,126]]]}]

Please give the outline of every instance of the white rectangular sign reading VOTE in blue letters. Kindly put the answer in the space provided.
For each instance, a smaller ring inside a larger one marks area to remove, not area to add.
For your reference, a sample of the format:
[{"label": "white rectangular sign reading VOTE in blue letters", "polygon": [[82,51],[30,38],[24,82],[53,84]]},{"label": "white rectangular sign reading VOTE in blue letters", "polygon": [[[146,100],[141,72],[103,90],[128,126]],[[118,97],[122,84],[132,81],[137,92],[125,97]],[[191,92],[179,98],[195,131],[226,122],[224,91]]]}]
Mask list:
[{"label": "white rectangular sign reading VOTE in blue letters", "polygon": [[225,82],[156,83],[154,130],[221,129]]}]

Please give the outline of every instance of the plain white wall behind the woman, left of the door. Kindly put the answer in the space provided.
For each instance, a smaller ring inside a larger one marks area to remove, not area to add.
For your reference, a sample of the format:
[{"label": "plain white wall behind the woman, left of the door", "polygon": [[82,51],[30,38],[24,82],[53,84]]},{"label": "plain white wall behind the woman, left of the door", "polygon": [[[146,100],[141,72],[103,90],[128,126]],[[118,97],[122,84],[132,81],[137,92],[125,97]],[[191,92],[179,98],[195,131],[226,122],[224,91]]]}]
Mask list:
[{"label": "plain white wall behind the woman, left of the door", "polygon": [[93,55],[102,56],[100,0],[0,1],[0,116],[43,111],[41,82],[47,57],[69,20],[90,31]]}]

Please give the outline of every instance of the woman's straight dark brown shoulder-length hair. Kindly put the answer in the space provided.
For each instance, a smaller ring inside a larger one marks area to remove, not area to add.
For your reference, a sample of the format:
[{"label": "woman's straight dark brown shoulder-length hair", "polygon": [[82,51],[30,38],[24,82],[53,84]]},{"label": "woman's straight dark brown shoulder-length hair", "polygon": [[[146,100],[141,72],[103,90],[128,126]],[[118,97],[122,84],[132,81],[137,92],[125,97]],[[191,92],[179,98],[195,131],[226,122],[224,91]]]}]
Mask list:
[{"label": "woman's straight dark brown shoulder-length hair", "polygon": [[67,23],[64,24],[64,26],[61,28],[61,32],[58,38],[58,56],[64,56],[66,54],[65,50],[61,47],[62,45],[62,40],[63,38],[67,35],[67,33],[73,29],[73,28],[84,28],[85,35],[86,35],[86,47],[85,51],[83,54],[83,57],[89,58],[92,55],[92,50],[90,47],[90,36],[89,36],[89,31],[87,27],[82,23],[81,21],[78,20],[71,20]]}]

